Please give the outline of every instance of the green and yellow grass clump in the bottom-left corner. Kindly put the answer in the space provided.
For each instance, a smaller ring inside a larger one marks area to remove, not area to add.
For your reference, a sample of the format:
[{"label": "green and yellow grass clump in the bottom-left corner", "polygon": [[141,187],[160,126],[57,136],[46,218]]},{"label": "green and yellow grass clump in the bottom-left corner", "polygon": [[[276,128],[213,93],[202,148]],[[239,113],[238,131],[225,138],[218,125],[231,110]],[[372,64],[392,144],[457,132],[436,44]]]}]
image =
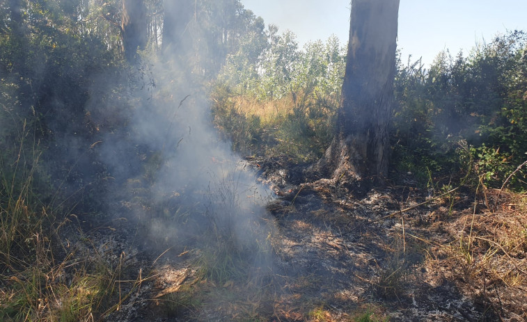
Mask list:
[{"label": "green and yellow grass clump in the bottom-left corner", "polygon": [[17,236],[25,237],[25,250],[0,254],[0,320],[95,321],[109,307],[104,298],[113,293],[116,273],[100,258],[76,257],[75,250],[55,259],[52,236],[42,226],[28,234]]}]

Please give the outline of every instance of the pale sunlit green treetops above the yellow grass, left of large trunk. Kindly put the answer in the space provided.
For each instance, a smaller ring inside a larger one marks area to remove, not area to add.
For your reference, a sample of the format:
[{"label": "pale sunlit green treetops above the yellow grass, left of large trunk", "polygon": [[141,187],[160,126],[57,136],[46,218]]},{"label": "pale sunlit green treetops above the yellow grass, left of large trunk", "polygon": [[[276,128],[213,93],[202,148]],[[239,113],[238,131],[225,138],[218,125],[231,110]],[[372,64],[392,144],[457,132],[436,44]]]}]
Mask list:
[{"label": "pale sunlit green treetops above the yellow grass, left of large trunk", "polygon": [[339,97],[344,68],[345,49],[335,36],[299,50],[294,33],[278,35],[278,27],[270,25],[267,39],[246,35],[239,50],[227,57],[217,81],[237,95],[260,100],[300,92],[327,99]]}]

